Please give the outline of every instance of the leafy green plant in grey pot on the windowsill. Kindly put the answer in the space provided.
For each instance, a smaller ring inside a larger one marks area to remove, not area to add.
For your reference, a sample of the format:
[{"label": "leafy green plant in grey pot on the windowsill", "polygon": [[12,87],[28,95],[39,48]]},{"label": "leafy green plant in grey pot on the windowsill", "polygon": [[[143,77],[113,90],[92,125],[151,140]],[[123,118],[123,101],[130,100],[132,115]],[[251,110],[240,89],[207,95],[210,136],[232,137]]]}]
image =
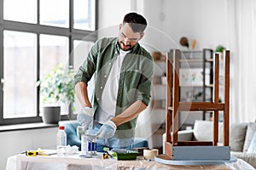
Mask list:
[{"label": "leafy green plant in grey pot on the windowsill", "polygon": [[57,65],[40,81],[40,97],[43,101],[43,121],[58,123],[61,104],[74,102],[73,69],[65,71],[63,63]]}]

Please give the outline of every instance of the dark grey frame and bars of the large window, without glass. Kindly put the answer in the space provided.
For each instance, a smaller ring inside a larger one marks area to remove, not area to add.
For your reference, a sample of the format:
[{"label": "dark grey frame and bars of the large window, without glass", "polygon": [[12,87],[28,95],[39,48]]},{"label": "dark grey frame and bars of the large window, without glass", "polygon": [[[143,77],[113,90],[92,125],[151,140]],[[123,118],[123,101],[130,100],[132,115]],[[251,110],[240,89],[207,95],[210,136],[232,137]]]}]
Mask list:
[{"label": "dark grey frame and bars of the large window, without glass", "polygon": [[[32,123],[32,122],[42,122],[42,117],[39,116],[39,86],[37,88],[37,116],[33,117],[19,117],[19,118],[8,118],[3,119],[3,31],[23,31],[28,33],[34,33],[37,37],[37,80],[40,76],[40,34],[47,34],[53,36],[63,36],[67,37],[69,41],[69,65],[73,66],[73,41],[74,40],[83,40],[86,37],[86,41],[96,42],[97,35],[94,34],[94,31],[84,31],[73,28],[73,0],[69,0],[69,27],[56,27],[56,26],[44,26],[39,24],[39,4],[38,0],[38,12],[37,12],[37,24],[23,23],[12,20],[3,20],[3,1],[0,1],[0,126],[9,125],[9,124],[20,124],[20,123]],[[95,0],[95,30],[98,28],[98,0]],[[93,34],[92,34],[93,33]],[[89,37],[88,37],[89,36]],[[69,107],[68,115],[61,115],[61,120],[70,120],[76,119],[76,115],[73,114],[71,106]]]}]

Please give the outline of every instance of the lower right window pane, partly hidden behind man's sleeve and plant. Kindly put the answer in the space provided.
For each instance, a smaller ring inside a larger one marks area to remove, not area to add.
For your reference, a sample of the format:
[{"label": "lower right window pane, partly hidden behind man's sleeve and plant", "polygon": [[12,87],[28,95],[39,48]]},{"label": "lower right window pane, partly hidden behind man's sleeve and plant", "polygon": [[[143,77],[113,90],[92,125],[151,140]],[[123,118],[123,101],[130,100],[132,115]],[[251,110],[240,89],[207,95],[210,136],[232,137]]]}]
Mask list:
[{"label": "lower right window pane, partly hidden behind man's sleeve and plant", "polygon": [[[73,68],[74,71],[78,71],[79,67],[81,65],[83,65],[84,60],[87,58],[87,55],[90,51],[90,48],[92,47],[92,45],[94,44],[94,42],[86,42],[86,41],[79,41],[79,40],[75,40],[73,42]],[[92,77],[90,82],[88,83],[88,95],[89,95],[89,99],[91,98],[91,94],[93,92],[94,89],[94,78]],[[74,114],[76,114],[77,111],[80,111],[81,109],[81,105],[79,103],[79,99],[75,99],[74,102],[74,107],[75,107],[75,112]]]}]

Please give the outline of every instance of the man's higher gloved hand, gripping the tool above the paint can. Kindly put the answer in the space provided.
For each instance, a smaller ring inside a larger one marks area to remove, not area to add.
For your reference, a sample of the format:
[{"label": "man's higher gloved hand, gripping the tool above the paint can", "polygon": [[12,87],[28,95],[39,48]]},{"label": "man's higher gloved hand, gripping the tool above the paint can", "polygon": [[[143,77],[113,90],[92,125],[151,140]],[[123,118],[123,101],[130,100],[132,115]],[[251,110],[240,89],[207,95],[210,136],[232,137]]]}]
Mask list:
[{"label": "man's higher gloved hand, gripping the tool above the paint can", "polygon": [[84,128],[84,130],[87,130],[90,126],[90,123],[92,122],[94,111],[90,107],[84,107],[79,115],[77,116],[77,121],[80,125]]}]

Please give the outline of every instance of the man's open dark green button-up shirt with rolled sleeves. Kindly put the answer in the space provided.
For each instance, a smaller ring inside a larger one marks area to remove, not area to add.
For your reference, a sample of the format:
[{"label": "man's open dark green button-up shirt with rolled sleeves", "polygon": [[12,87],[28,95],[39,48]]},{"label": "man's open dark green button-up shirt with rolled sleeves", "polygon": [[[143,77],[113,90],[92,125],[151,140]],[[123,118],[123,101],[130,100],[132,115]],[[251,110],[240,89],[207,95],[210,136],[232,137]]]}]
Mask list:
[{"label": "man's open dark green button-up shirt with rolled sleeves", "polygon": [[[98,40],[90,49],[87,59],[79,67],[79,71],[74,77],[74,84],[77,82],[85,82],[87,84],[95,73],[96,85],[91,100],[95,111],[98,106],[98,100],[101,99],[102,91],[107,82],[113,62],[119,55],[119,50],[117,37]],[[141,100],[144,104],[148,105],[151,97],[150,91],[154,73],[153,65],[152,56],[138,43],[131,49],[129,54],[125,55],[119,77],[116,116],[125,111],[125,109],[137,100]],[[118,130],[134,128],[136,123],[137,117],[130,122],[120,125]]]}]

